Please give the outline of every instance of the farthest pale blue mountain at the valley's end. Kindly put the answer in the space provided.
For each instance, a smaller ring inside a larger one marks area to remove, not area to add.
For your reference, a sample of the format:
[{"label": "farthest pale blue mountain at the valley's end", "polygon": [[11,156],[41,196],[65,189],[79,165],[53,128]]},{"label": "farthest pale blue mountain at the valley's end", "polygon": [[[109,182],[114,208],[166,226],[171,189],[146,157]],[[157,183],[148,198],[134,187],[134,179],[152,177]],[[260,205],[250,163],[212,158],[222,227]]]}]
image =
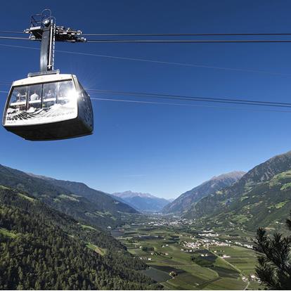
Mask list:
[{"label": "farthest pale blue mountain at the valley's end", "polygon": [[125,191],[122,193],[113,193],[112,195],[121,198],[123,201],[141,212],[159,212],[165,205],[169,204],[168,200],[157,198],[148,193]]}]

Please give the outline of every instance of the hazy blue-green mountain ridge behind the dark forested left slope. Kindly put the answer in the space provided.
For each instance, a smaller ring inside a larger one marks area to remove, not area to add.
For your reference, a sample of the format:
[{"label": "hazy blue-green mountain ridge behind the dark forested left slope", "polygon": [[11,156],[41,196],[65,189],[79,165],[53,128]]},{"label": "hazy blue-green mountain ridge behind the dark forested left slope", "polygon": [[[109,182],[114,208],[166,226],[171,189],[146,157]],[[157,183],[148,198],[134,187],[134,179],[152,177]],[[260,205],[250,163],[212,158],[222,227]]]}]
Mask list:
[{"label": "hazy blue-green mountain ridge behind the dark forested left slope", "polygon": [[129,205],[82,183],[33,176],[1,165],[0,185],[30,193],[46,205],[94,226],[115,226],[120,224],[122,212],[136,212]]}]

